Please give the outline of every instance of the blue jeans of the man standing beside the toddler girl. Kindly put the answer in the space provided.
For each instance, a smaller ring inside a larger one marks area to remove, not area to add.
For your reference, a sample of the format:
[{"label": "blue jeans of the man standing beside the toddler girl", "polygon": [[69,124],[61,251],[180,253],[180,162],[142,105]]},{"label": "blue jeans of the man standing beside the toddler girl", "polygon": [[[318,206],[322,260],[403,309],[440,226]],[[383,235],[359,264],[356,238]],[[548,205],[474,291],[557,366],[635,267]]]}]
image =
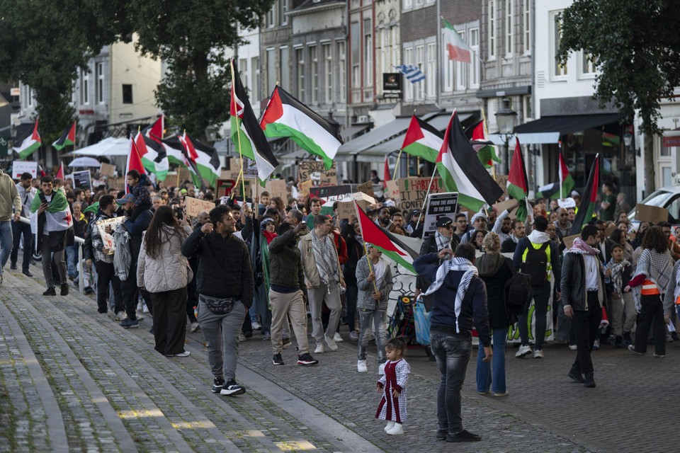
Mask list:
[{"label": "blue jeans of the man standing beside the toddler girl", "polygon": [[472,355],[472,337],[431,331],[430,348],[441,373],[437,389],[439,429],[455,434],[463,430],[460,390]]}]

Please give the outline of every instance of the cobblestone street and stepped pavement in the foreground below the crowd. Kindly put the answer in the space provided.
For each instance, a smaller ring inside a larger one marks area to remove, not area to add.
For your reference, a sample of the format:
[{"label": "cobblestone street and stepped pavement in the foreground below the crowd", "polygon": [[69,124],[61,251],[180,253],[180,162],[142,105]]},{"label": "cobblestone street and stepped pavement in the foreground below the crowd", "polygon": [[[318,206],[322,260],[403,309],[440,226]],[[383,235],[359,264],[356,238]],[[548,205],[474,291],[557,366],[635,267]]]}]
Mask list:
[{"label": "cobblestone street and stepped pavement in the foreground below the crowd", "polygon": [[[41,275],[35,268],[35,275]],[[37,278],[6,270],[0,287],[0,452],[661,452],[673,449],[680,343],[659,360],[594,352],[596,389],[566,377],[574,352],[549,345],[545,359],[507,354],[510,396],[475,393],[475,362],[463,391],[465,428],[482,442],[434,439],[438,371],[409,350],[409,419],[403,436],[375,420],[377,364],[356,372],[356,343],[317,355],[317,367],[271,365],[261,333],[242,343],[237,379],[248,389],[210,392],[203,336],[191,356],[153,349],[151,320],[125,331],[90,297],[42,297]],[[341,334],[346,338],[347,328]],[[371,344],[370,348],[375,348]],[[369,363],[375,358],[369,349]]]}]

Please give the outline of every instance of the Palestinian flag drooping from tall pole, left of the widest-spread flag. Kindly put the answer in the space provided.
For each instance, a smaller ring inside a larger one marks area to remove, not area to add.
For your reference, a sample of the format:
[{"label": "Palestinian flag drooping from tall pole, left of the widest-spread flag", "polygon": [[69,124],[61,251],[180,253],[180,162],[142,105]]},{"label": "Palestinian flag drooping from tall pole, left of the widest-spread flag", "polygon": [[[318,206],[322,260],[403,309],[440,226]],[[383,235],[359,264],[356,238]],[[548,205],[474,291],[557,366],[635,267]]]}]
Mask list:
[{"label": "Palestinian flag drooping from tall pole, left of the widest-spread flag", "polygon": [[255,161],[257,176],[262,183],[266,180],[278,161],[269,149],[267,137],[261,129],[246,90],[241,83],[236,60],[232,58],[232,98],[229,102],[229,115],[232,123],[232,142],[239,154]]}]

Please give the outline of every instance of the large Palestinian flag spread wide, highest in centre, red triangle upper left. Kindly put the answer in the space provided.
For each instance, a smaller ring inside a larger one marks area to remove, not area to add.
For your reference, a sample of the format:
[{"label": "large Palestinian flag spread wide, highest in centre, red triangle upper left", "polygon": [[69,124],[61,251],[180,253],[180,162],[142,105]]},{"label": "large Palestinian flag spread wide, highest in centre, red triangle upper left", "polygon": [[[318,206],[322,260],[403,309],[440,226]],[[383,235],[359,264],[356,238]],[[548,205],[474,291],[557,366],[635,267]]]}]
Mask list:
[{"label": "large Palestinian flag spread wide, highest in centre, red triangle upper left", "polygon": [[319,156],[327,170],[333,166],[343,143],[337,122],[324,119],[280,86],[271,93],[260,127],[266,137],[288,137],[300,148]]}]

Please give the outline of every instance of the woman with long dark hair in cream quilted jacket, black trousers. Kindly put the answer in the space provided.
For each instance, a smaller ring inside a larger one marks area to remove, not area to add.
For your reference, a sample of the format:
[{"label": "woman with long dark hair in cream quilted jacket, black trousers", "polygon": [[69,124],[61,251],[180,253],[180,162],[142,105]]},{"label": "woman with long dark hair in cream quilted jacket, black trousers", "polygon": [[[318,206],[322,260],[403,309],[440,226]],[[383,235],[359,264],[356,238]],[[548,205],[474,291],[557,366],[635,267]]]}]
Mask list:
[{"label": "woman with long dark hair in cream quilted jacket, black trousers", "polygon": [[151,293],[156,350],[168,357],[186,357],[186,285],[193,275],[182,256],[188,232],[172,208],[161,206],[142,239],[137,260],[137,285]]}]

